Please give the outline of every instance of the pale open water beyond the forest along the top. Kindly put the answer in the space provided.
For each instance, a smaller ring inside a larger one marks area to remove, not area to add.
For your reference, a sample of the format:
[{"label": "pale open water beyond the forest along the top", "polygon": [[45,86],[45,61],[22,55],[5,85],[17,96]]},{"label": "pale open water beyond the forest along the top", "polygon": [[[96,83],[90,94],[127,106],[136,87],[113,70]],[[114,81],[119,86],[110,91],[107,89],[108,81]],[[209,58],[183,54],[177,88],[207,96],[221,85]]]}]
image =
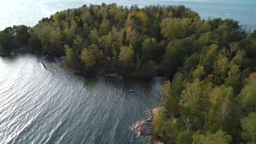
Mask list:
[{"label": "pale open water beyond the forest along the top", "polygon": [[117,3],[119,5],[185,5],[197,11],[203,19],[231,18],[256,29],[255,0],[8,0],[0,1],[0,30],[13,25],[34,26],[43,17],[56,11],[82,7],[83,4]]}]

